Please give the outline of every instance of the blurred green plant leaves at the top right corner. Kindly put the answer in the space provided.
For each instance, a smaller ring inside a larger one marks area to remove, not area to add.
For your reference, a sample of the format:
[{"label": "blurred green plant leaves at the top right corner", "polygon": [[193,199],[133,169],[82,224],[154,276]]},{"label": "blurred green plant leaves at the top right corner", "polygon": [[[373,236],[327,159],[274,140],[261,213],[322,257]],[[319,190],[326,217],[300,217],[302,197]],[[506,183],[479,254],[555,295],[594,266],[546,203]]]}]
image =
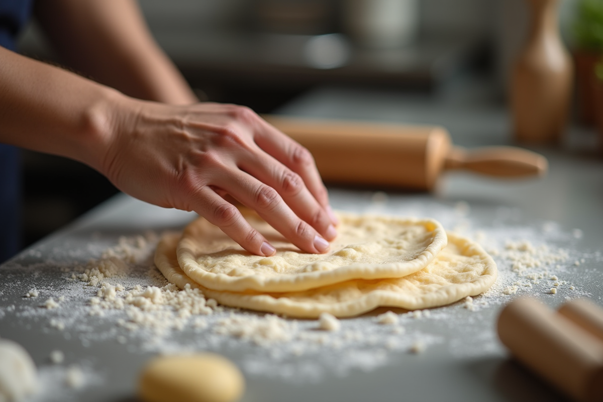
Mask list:
[{"label": "blurred green plant leaves at the top right corner", "polygon": [[573,33],[582,49],[603,51],[603,0],[579,0]]}]

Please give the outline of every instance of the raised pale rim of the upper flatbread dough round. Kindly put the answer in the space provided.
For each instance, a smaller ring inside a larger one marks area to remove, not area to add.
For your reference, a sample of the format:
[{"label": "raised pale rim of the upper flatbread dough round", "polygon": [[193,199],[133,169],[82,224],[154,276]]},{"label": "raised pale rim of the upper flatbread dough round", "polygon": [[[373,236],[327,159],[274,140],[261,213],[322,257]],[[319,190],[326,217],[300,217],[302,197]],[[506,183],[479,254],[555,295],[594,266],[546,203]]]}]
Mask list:
[{"label": "raised pale rim of the upper flatbread dough round", "polygon": [[[371,216],[370,218],[386,219],[384,216]],[[192,252],[195,248],[194,244],[189,239],[182,238],[177,245],[178,263],[186,275],[207,289],[229,292],[292,292],[315,289],[354,279],[370,280],[405,277],[425,268],[446,247],[448,242],[446,230],[444,230],[440,222],[434,219],[400,219],[390,217],[387,217],[387,219],[396,219],[396,221],[411,225],[420,224],[431,227],[430,231],[433,233],[432,242],[411,261],[379,265],[350,264],[333,269],[332,271],[304,272],[303,274],[283,275],[274,278],[259,275],[232,277],[230,275],[214,274],[213,272],[199,269],[194,252]]]}]

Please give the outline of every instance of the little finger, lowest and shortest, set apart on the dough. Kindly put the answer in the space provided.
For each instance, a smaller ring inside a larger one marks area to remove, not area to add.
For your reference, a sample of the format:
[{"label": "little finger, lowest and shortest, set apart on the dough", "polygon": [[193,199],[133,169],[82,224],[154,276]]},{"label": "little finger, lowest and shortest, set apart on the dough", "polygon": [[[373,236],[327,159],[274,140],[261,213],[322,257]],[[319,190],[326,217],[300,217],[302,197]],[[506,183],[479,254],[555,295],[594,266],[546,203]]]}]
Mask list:
[{"label": "little finger, lowest and shortest, set apart on the dough", "polygon": [[209,187],[203,187],[198,194],[204,203],[195,209],[207,221],[219,227],[242,248],[257,256],[272,256],[276,249],[268,240],[243,218],[233,204],[225,201]]}]

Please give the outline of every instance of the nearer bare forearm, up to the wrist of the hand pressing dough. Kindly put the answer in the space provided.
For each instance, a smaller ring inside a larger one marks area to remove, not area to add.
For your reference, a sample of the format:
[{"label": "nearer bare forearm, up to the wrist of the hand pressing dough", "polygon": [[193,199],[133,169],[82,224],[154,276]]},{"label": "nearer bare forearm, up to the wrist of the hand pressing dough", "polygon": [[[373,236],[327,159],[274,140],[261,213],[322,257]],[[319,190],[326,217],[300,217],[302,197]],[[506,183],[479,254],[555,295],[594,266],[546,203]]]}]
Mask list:
[{"label": "nearer bare forearm, up to the wrist of the hand pressing dough", "polygon": [[124,95],[0,47],[0,142],[101,168],[109,109]]}]

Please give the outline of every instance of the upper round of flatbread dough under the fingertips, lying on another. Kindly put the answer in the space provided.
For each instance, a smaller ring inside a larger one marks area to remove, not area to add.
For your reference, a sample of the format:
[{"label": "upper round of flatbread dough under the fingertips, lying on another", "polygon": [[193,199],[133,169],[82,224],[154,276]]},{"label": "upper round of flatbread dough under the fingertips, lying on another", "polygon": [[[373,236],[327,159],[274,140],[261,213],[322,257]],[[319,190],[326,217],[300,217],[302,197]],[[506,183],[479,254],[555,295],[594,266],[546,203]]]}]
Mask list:
[{"label": "upper round of flatbread dough under the fingertips, lying on another", "polygon": [[276,248],[276,255],[254,256],[199,218],[185,228],[177,247],[186,275],[218,291],[304,291],[352,279],[412,274],[432,262],[447,241],[444,228],[431,219],[341,213],[331,251],[302,253],[259,216],[245,215]]}]

